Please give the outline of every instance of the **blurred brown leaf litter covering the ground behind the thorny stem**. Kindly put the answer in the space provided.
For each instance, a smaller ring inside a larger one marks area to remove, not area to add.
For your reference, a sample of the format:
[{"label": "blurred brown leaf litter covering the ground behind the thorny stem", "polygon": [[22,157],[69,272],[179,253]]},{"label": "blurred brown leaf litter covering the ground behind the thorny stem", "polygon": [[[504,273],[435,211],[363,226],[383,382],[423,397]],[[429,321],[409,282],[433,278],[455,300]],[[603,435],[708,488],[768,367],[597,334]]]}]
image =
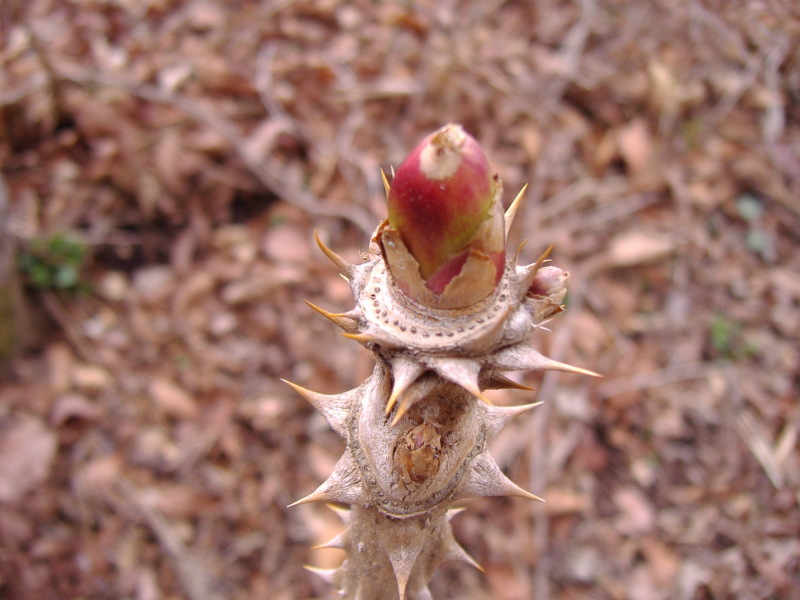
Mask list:
[{"label": "blurred brown leaf litter covering the ground behind the thorny stem", "polygon": [[0,597],[326,596],[341,524],[286,505],[343,444],[279,378],[373,361],[313,231],[358,260],[447,122],[604,378],[491,393],[544,401],[492,449],[547,503],[466,503],[435,597],[800,597],[791,0],[0,4]]}]

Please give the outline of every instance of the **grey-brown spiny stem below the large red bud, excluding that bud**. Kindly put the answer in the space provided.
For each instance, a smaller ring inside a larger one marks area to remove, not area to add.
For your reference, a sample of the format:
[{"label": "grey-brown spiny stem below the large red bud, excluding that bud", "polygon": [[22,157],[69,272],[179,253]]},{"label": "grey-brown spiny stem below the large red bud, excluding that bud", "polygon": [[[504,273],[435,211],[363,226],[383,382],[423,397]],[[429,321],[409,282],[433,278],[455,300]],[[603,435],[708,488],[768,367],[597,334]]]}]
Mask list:
[{"label": "grey-brown spiny stem below the large red bud, excluding that bud", "polygon": [[[385,176],[384,182],[391,196]],[[521,197],[505,213],[506,235]],[[391,598],[388,589],[400,600],[430,598],[427,583],[444,560],[480,568],[453,538],[453,503],[481,496],[541,501],[509,480],[487,449],[505,425],[536,405],[493,406],[484,390],[531,389],[505,376],[508,371],[595,375],[547,358],[530,342],[536,328],[563,310],[567,273],[543,265],[550,249],[530,265],[518,265],[515,256],[488,295],[443,308],[410,296],[398,282],[386,250],[388,227],[378,226],[361,264],[344,260],[316,236],[349,281],[355,307],[331,313],[309,306],[374,352],[372,376],[334,395],[289,383],[347,443],[331,476],[294,504],[349,507],[339,511],[347,528],[323,546],[345,550],[345,562],[316,572],[339,597],[358,600]]]}]

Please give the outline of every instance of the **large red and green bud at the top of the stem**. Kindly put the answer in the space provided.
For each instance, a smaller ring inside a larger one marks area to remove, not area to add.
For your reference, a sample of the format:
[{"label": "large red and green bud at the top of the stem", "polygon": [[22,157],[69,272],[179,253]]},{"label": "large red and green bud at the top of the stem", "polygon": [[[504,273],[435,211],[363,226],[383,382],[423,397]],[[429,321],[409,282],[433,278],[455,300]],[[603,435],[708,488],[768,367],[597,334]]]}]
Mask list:
[{"label": "large red and green bud at the top of the stem", "polygon": [[428,135],[397,169],[379,241],[418,302],[463,308],[494,290],[505,269],[500,182],[460,125]]}]

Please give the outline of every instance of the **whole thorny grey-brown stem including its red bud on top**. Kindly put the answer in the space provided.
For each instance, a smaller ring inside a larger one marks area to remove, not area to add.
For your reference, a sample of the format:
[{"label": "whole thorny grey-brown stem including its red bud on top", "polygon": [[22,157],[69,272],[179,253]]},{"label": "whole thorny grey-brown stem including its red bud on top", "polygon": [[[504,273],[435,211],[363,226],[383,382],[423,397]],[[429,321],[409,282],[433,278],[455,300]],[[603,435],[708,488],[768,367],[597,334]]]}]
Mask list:
[{"label": "whole thorny grey-brown stem including its red bud on top", "polygon": [[[442,136],[452,136],[444,146],[456,154],[445,159],[446,174],[434,176],[440,188],[429,185],[424,157],[429,148],[438,152]],[[347,558],[338,569],[315,570],[337,598],[426,600],[440,562],[464,560],[480,568],[453,538],[454,503],[480,496],[541,500],[511,482],[488,452],[488,441],[535,405],[493,406],[483,391],[530,390],[505,371],[596,375],[549,359],[531,344],[531,333],[563,310],[568,274],[543,264],[549,248],[530,265],[516,264],[514,256],[501,269],[494,266],[493,257],[505,257],[502,241],[521,194],[498,221],[500,181],[481,171],[488,168],[481,155],[458,125],[425,138],[387,182],[394,216],[378,225],[364,263],[345,261],[317,237],[350,282],[355,307],[330,313],[311,306],[376,357],[373,374],[342,394],[290,384],[347,443],[331,476],[295,503],[349,507],[337,511],[346,530],[325,545],[345,550]],[[477,166],[463,171],[462,160]],[[412,171],[401,173],[408,165]],[[401,177],[402,188],[393,190]],[[491,182],[489,195],[477,183],[483,177]],[[458,209],[442,205],[450,202]],[[465,214],[470,211],[473,216]],[[431,231],[417,229],[430,225],[428,218],[439,223],[441,237],[434,239],[442,247],[430,245]],[[439,279],[430,285],[431,278]]]}]

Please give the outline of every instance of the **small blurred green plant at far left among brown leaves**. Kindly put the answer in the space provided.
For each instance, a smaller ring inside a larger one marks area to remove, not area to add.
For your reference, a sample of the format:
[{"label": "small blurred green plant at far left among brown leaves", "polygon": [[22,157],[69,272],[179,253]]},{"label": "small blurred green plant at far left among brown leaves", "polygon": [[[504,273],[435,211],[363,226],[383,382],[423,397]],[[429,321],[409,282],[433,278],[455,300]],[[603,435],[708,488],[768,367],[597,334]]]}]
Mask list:
[{"label": "small blurred green plant at far left among brown leaves", "polygon": [[81,280],[86,255],[84,242],[58,233],[28,242],[20,251],[17,264],[35,288],[86,291],[88,284]]}]

